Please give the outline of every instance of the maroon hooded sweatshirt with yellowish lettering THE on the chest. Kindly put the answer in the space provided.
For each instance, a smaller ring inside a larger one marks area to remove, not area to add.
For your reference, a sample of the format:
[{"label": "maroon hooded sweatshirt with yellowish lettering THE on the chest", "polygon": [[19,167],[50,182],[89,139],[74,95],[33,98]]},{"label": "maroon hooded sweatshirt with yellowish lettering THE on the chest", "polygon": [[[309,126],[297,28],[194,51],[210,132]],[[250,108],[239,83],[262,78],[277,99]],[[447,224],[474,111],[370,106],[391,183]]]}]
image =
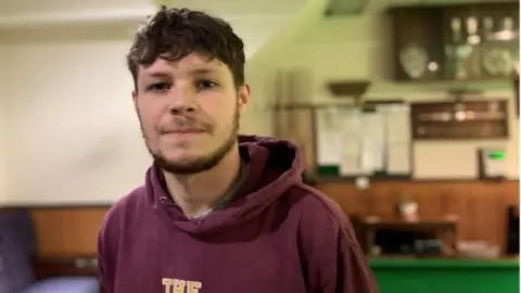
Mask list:
[{"label": "maroon hooded sweatshirt with yellowish lettering THE on the chest", "polygon": [[99,235],[104,293],[376,293],[342,211],[304,184],[300,151],[240,139],[250,174],[226,208],[188,219],[152,166]]}]

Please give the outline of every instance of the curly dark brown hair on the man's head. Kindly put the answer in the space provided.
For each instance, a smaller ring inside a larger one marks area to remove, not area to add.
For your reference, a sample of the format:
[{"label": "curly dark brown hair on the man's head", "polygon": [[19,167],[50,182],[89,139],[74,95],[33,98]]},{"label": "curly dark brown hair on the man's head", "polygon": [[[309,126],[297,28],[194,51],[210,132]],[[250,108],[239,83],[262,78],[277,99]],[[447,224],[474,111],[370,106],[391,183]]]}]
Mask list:
[{"label": "curly dark brown hair on the man's head", "polygon": [[244,42],[221,18],[189,9],[161,7],[138,27],[127,54],[135,87],[139,66],[150,66],[157,58],[178,61],[192,52],[216,58],[228,65],[237,87],[244,84]]}]

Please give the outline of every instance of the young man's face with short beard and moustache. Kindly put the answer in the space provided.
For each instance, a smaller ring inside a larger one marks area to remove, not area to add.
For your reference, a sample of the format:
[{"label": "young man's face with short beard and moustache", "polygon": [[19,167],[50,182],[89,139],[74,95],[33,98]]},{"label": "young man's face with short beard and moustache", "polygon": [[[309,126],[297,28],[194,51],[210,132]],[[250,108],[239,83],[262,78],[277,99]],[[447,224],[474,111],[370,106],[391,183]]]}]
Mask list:
[{"label": "young man's face with short beard and moustache", "polygon": [[191,53],[141,66],[132,98],[156,164],[166,171],[195,174],[214,167],[236,145],[250,90],[236,88],[226,64]]}]

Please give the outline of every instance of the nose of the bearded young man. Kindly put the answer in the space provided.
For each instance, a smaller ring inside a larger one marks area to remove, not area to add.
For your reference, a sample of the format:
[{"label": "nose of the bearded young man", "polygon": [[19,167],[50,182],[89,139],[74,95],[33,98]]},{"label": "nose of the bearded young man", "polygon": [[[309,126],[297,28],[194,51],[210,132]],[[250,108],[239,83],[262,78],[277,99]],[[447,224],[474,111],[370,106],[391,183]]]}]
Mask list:
[{"label": "nose of the bearded young man", "polygon": [[173,115],[195,113],[199,109],[196,92],[189,85],[178,84],[170,89],[168,112]]}]

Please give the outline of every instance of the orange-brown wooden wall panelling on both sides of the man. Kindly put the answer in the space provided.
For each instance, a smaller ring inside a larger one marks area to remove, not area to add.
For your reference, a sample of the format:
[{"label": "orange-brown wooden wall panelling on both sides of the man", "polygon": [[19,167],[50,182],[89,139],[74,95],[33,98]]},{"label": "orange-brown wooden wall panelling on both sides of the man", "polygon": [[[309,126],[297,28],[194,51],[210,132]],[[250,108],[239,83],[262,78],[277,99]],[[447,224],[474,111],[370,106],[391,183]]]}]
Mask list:
[{"label": "orange-brown wooden wall panelling on both sides of the man", "polygon": [[[372,182],[358,190],[351,182],[316,184],[347,215],[395,217],[404,200],[419,203],[422,217],[459,216],[459,240],[484,240],[505,247],[507,206],[519,206],[519,181],[399,181]],[[96,254],[98,231],[110,206],[31,207],[38,254]]]}]

